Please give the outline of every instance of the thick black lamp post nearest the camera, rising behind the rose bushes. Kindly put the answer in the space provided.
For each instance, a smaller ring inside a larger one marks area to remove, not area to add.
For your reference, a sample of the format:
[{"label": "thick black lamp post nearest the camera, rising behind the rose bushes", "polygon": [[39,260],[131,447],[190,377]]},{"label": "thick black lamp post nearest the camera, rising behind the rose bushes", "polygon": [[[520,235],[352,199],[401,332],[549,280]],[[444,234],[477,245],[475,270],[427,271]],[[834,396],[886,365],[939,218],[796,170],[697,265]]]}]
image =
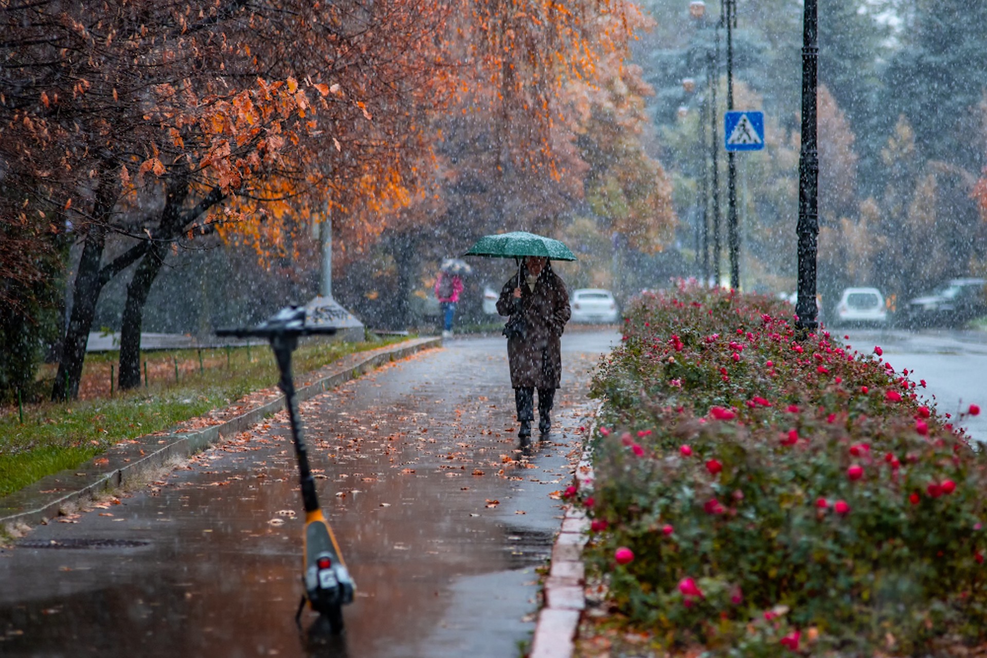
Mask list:
[{"label": "thick black lamp post nearest the camera, rising behind the rose bushes", "polygon": [[819,235],[819,155],[816,150],[816,82],[819,47],[816,41],[816,0],[805,0],[802,19],[802,124],[798,154],[798,301],[797,329],[816,329],[815,264]]}]

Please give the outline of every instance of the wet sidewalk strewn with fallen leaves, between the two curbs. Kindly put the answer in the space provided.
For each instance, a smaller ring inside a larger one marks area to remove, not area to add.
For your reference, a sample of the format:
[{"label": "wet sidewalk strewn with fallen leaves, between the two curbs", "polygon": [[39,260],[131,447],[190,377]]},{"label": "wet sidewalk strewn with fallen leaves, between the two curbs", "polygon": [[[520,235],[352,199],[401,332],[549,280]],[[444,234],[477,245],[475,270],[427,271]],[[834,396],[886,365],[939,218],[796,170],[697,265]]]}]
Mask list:
[{"label": "wet sidewalk strewn with fallen leaves, between the two curbs", "polygon": [[303,403],[321,501],[357,585],[342,637],[293,621],[301,502],[281,412],[0,551],[0,654],[520,655],[561,523],[553,494],[595,407],[589,371],[616,338],[564,336],[557,429],[526,452],[502,338],[451,340]]}]

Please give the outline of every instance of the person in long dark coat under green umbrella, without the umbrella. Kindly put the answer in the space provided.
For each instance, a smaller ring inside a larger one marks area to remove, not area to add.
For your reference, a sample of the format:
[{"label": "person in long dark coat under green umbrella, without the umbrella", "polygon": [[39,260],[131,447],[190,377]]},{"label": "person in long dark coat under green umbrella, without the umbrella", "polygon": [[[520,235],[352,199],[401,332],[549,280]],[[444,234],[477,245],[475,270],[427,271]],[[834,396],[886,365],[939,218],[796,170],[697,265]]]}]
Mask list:
[{"label": "person in long dark coat under green umbrella, without the umbrella", "polygon": [[531,436],[534,420],[534,392],[538,389],[538,429],[547,434],[552,427],[552,406],[562,380],[561,336],[569,322],[569,292],[552,271],[547,257],[525,256],[517,273],[500,291],[496,310],[510,316],[507,334],[507,360],[510,385],[514,389],[517,435]]}]

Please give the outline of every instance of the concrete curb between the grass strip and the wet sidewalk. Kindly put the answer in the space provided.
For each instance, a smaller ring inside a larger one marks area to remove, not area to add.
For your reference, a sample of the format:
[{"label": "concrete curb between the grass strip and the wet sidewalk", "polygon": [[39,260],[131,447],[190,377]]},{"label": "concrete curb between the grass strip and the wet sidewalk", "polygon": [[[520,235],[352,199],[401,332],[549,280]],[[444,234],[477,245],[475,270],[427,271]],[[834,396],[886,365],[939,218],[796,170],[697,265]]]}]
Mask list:
[{"label": "concrete curb between the grass strip and the wet sidewalk", "polygon": [[[425,337],[347,355],[317,371],[315,381],[302,386],[296,384],[298,402],[314,398],[385,363],[441,345],[441,338]],[[230,408],[227,407],[227,410]],[[129,443],[117,444],[78,469],[48,475],[0,498],[0,527],[45,523],[70,503],[91,497],[103,489],[121,486],[138,479],[143,473],[165,466],[171,460],[204,450],[228,436],[246,431],[283,408],[284,396],[278,394],[204,429],[146,435]]]}]

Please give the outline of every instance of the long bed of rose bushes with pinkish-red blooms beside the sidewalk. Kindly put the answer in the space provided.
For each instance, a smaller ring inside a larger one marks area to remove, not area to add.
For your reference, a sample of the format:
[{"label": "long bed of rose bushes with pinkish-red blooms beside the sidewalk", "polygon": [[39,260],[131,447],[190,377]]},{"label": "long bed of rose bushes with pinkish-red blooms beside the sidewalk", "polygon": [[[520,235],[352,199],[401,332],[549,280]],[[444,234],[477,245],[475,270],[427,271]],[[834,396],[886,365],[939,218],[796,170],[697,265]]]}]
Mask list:
[{"label": "long bed of rose bushes with pinkish-red blooms beside the sidewalk", "polygon": [[940,413],[879,346],[799,336],[791,313],[688,285],[629,308],[593,380],[592,491],[573,496],[593,501],[587,562],[667,648],[985,639],[987,460],[954,425],[979,408]]}]

